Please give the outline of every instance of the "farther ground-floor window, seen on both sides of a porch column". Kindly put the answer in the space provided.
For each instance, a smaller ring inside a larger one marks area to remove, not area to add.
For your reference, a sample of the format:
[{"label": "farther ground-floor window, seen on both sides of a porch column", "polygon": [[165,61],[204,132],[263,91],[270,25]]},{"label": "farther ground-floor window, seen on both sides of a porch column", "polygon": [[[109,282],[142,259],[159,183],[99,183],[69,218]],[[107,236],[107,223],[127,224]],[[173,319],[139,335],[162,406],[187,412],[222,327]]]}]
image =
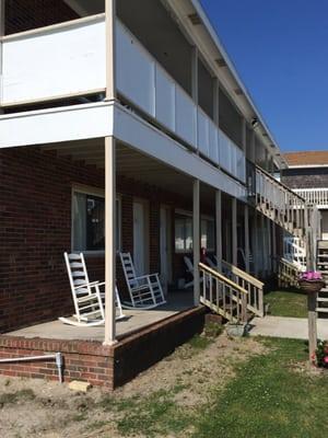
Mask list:
[{"label": "farther ground-floor window, seen on both sides of a porch column", "polygon": [[[214,221],[201,218],[201,246],[214,251]],[[175,251],[187,253],[192,251],[192,216],[191,214],[175,215]]]}]

